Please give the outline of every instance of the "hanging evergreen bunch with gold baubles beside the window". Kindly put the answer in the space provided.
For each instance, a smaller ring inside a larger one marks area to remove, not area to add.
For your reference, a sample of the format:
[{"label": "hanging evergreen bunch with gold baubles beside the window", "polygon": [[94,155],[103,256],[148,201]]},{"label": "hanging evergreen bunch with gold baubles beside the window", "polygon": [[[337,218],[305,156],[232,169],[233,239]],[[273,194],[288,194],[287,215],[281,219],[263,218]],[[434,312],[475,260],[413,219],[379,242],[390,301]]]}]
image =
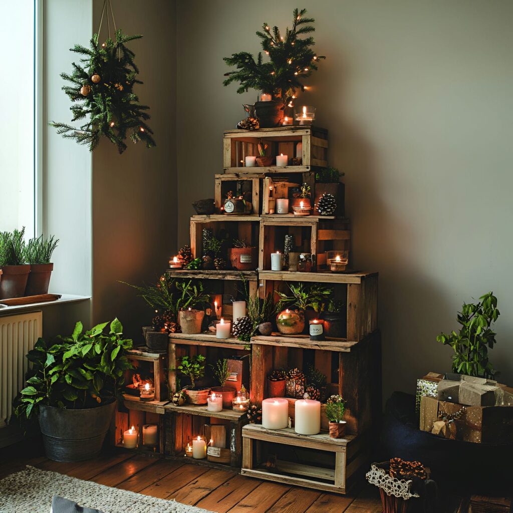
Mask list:
[{"label": "hanging evergreen bunch with gold baubles beside the window", "polygon": [[[98,30],[100,33],[100,30]],[[75,139],[80,144],[89,145],[92,151],[100,137],[107,137],[123,153],[127,137],[137,143],[143,141],[147,148],[155,146],[151,134],[153,131],[146,124],[150,115],[149,107],[139,104],[139,97],[134,93],[134,84],[142,84],[136,76],[139,69],[134,64],[135,54],[125,45],[129,41],[140,39],[142,35],[128,36],[121,29],[115,30],[115,42],[109,37],[105,43],[98,45],[98,34],[91,39],[90,49],[75,45],[70,50],[84,56],[80,62],[73,63],[73,73],[61,73],[72,83],[62,89],[70,97],[73,105],[73,121],[89,116],[89,121],[80,128],[66,123],[51,125],[63,137]]]}]

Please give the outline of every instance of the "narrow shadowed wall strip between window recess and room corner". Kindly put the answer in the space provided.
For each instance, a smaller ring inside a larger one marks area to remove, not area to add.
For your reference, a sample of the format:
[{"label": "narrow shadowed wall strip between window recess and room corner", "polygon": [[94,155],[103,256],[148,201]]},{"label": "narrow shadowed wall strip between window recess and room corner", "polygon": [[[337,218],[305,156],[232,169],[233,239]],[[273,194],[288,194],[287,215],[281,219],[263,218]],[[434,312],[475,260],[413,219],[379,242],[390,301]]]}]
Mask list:
[{"label": "narrow shadowed wall strip between window recess and room corner", "polygon": [[[103,0],[93,7],[97,31]],[[154,282],[176,249],[176,3],[112,0],[112,7],[118,28],[144,34],[130,48],[144,82],[136,92],[150,106],[156,147],[128,143],[119,155],[103,140],[93,153],[93,321],[117,315],[125,333],[141,339],[151,312],[117,281]],[[104,27],[105,19],[102,34]]]}]

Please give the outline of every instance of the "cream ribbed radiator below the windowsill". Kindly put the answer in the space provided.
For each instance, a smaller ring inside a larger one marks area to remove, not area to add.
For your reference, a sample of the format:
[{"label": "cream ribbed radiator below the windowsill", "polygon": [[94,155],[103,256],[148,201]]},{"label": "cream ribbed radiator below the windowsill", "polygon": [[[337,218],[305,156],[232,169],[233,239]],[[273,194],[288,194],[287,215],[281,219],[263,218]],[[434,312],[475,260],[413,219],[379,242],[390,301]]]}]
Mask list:
[{"label": "cream ribbed radiator below the windowsill", "polygon": [[0,317],[0,427],[12,415],[12,400],[25,384],[25,355],[43,334],[43,312]]}]

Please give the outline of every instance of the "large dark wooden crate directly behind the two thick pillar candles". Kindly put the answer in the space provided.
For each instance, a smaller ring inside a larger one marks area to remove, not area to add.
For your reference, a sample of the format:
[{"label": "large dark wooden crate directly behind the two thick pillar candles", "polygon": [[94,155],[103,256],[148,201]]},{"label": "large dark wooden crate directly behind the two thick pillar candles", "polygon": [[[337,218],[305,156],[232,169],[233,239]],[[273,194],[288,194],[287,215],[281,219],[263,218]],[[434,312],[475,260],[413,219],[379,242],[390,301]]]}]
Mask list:
[{"label": "large dark wooden crate directly behind the two thick pillar candles", "polygon": [[[374,331],[360,342],[327,340],[310,342],[308,336],[271,336],[251,339],[251,388],[253,404],[268,396],[267,376],[273,369],[308,364],[328,378],[328,393],[346,401],[347,433],[357,435],[377,426],[381,412],[381,334]],[[293,401],[289,416],[293,416]]]}]

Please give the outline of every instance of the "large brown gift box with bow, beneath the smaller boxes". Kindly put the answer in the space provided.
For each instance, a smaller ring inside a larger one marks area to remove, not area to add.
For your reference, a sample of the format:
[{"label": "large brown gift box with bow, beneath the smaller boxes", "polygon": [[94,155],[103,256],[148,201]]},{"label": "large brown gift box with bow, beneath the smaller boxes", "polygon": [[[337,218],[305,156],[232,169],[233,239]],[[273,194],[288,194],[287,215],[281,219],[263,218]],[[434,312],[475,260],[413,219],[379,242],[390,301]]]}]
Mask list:
[{"label": "large brown gift box with bow, beneath the smaller boxes", "polygon": [[[444,417],[457,417],[453,422]],[[475,443],[510,443],[513,440],[513,406],[466,406],[422,397],[420,429]]]}]

